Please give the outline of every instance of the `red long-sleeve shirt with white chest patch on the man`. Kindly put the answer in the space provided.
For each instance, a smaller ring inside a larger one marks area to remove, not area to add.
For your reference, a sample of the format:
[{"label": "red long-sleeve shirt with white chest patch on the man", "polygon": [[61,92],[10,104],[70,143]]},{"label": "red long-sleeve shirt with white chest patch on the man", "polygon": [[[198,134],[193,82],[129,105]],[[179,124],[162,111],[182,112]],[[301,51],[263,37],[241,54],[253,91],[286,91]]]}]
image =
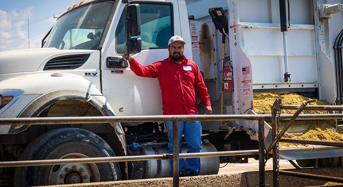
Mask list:
[{"label": "red long-sleeve shirt with white chest patch on the man", "polygon": [[143,66],[135,59],[131,70],[140,77],[157,78],[162,91],[163,115],[194,115],[198,112],[195,90],[205,106],[211,106],[210,96],[197,64],[182,56],[177,64],[170,56]]}]

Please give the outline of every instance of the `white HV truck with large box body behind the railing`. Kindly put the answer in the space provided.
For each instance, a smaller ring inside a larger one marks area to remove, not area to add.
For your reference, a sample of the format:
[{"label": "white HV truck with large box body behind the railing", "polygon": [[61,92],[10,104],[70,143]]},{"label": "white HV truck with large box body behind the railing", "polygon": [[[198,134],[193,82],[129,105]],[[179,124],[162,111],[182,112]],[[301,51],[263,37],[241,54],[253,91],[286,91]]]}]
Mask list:
[{"label": "white HV truck with large box body behind the railing", "polygon": [[[139,4],[141,23],[141,52],[132,56],[145,66],[163,60],[168,39],[180,35],[184,55],[203,73],[213,114],[220,114],[223,68],[222,35],[208,12],[213,7],[223,7],[229,25],[224,62],[233,70],[234,84],[224,94],[224,114],[253,110],[253,92],[301,92],[342,104],[342,0],[289,0],[288,60],[277,0],[129,3]],[[0,117],[162,115],[157,80],[137,77],[121,59],[124,9],[121,0],[81,1],[59,16],[42,48],[1,52]],[[291,81],[284,81],[285,72]],[[199,102],[199,114],[203,107]],[[237,123],[258,130],[256,121]],[[224,140],[228,129],[219,127],[218,121],[202,122],[202,151],[258,149],[257,134],[236,131]],[[166,142],[160,121],[3,125],[0,161],[161,154],[168,152]],[[245,163],[248,156],[201,158],[199,174],[216,174],[219,163],[226,162]],[[164,160],[0,168],[2,176],[14,175],[15,186],[171,177],[171,171]]]}]

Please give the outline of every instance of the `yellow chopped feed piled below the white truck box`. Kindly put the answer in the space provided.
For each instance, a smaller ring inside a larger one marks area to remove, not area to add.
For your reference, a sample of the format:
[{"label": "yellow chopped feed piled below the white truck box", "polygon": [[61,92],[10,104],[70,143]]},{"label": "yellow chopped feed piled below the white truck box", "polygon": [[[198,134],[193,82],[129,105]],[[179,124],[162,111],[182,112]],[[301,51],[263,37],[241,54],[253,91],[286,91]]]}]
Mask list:
[{"label": "yellow chopped feed piled below the white truck box", "polygon": [[[271,114],[271,105],[273,105],[275,99],[281,98],[282,103],[285,105],[301,105],[303,101],[312,100],[308,97],[298,95],[296,93],[281,92],[281,93],[254,93],[254,111],[257,114],[265,113]],[[310,105],[329,105],[327,101],[317,100]],[[281,110],[281,114],[294,114],[296,110]],[[327,114],[329,111],[323,110],[303,110],[301,114]],[[280,122],[280,129],[287,124],[287,121]],[[271,125],[271,122],[269,122]],[[301,136],[294,136],[289,133],[285,133],[283,138],[297,138],[297,139],[310,139],[310,140],[323,140],[323,141],[336,141],[343,142],[342,129],[336,129],[336,123],[334,120],[300,120],[295,121],[292,126],[303,127],[304,132]],[[335,130],[334,130],[335,129]],[[304,147],[312,146],[307,144],[297,143],[284,143],[280,142],[280,147]]]}]

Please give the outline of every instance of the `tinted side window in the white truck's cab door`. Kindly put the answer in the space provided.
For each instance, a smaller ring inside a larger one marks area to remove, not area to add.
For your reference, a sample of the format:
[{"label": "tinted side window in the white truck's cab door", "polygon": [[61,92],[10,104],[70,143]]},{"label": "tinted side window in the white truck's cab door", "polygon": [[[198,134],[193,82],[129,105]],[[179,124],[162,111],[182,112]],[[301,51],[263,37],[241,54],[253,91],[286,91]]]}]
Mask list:
[{"label": "tinted side window in the white truck's cab door", "polygon": [[[142,50],[167,48],[171,37],[171,5],[140,3]],[[126,52],[124,11],[116,31],[116,52]]]}]

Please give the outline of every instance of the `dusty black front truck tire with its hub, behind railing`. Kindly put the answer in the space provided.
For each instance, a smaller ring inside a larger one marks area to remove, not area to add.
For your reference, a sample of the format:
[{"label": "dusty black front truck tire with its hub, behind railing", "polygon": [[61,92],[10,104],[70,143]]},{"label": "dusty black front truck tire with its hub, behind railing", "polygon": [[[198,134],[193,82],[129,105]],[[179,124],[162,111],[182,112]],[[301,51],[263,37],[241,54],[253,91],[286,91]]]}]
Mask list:
[{"label": "dusty black front truck tire with its hub, behind railing", "polygon": [[[93,132],[61,128],[46,132],[24,150],[20,160],[72,159],[116,156]],[[121,180],[118,162],[16,167],[14,184],[47,186]]]}]

